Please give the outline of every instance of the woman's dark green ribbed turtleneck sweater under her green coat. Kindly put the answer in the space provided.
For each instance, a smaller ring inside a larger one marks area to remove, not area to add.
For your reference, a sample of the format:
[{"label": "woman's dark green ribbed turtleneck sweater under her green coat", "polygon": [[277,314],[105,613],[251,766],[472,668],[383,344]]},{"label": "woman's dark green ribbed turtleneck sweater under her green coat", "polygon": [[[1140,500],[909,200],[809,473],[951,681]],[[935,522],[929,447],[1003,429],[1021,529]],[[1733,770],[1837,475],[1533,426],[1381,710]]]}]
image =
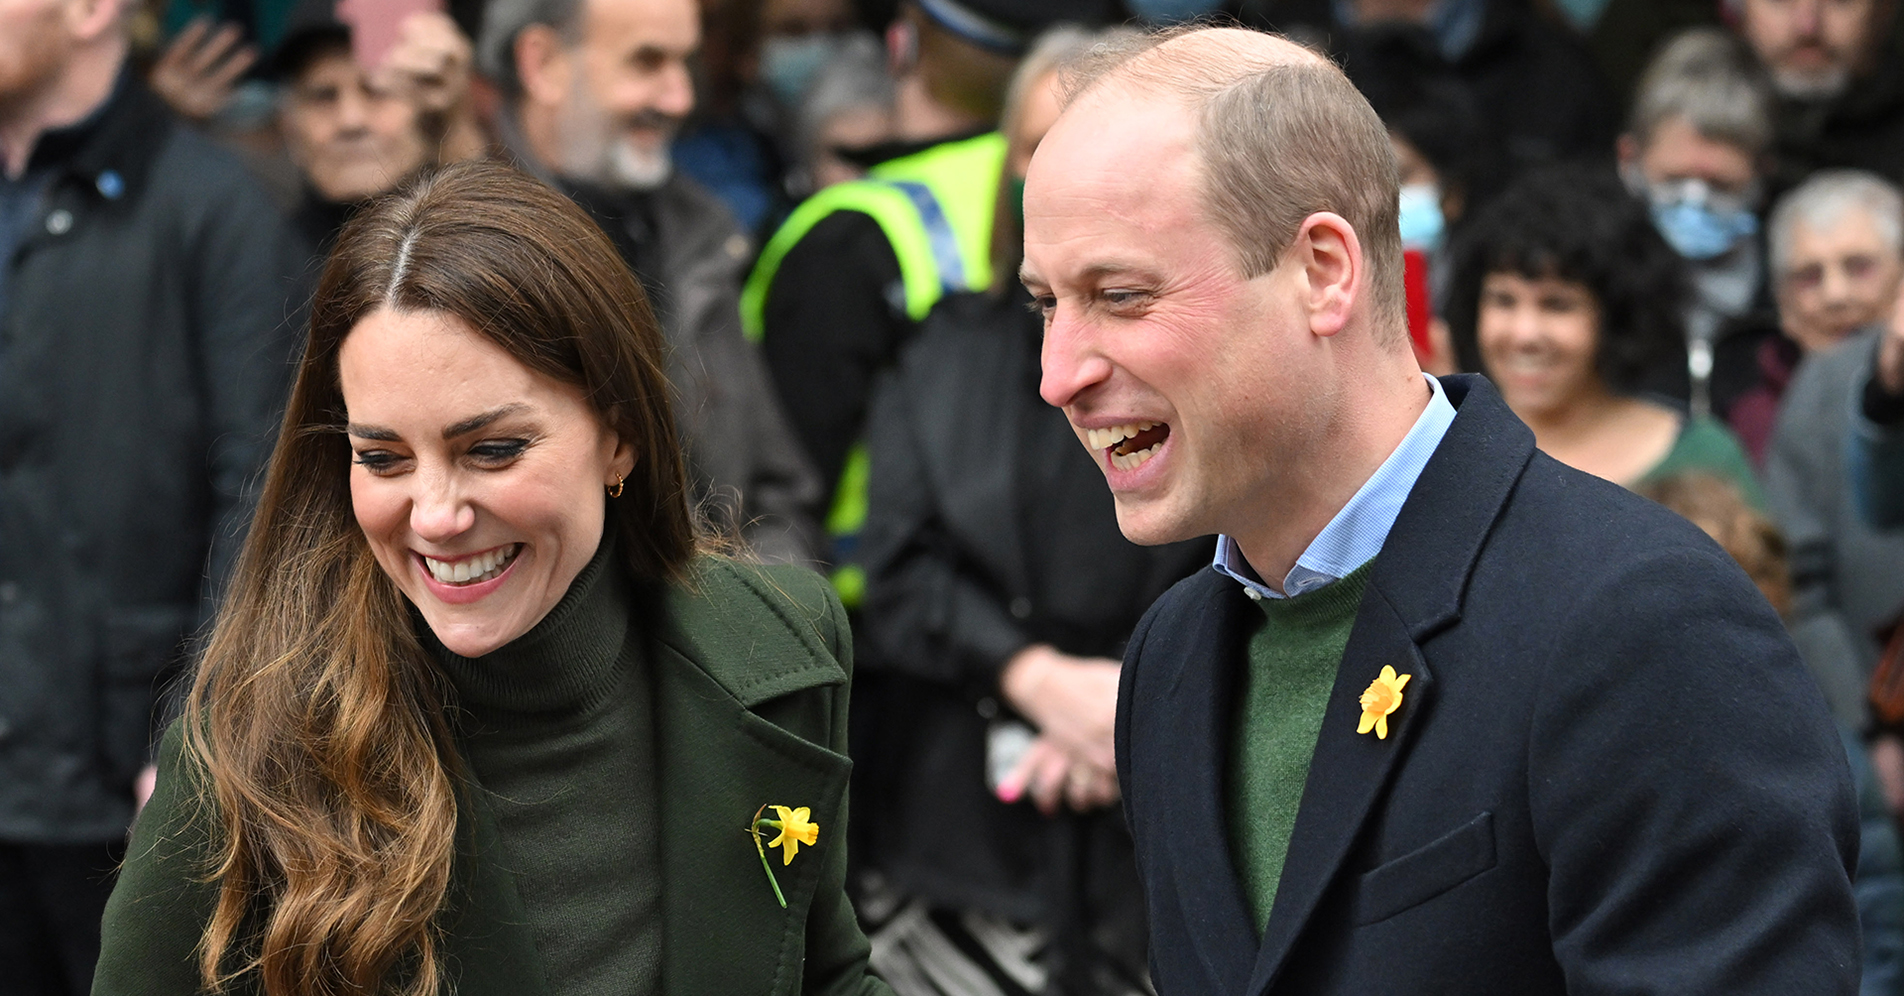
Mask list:
[{"label": "woman's dark green ribbed turtleneck sweater under her green coat", "polygon": [[661,988],[653,678],[604,541],[529,632],[478,659],[434,640],[550,992]]}]

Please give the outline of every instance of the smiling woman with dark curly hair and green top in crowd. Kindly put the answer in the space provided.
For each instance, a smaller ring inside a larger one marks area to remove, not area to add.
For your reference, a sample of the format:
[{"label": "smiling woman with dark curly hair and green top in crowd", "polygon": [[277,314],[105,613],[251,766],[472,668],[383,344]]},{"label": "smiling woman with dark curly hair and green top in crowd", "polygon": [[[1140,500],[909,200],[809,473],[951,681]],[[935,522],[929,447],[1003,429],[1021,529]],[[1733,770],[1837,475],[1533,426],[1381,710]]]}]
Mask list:
[{"label": "smiling woman with dark curly hair and green top in crowd", "polygon": [[1687,286],[1611,171],[1523,177],[1474,219],[1455,259],[1455,350],[1495,381],[1542,451],[1628,488],[1706,470],[1763,507],[1723,425],[1645,390],[1647,371],[1683,356]]}]

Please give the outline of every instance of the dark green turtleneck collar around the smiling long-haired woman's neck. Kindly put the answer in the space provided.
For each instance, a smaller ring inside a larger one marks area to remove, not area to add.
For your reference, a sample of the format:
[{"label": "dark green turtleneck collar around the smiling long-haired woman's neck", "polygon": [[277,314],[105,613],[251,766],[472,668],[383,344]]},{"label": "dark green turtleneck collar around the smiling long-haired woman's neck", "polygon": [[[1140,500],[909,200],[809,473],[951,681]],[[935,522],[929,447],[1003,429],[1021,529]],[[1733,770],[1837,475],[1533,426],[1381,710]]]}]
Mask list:
[{"label": "dark green turtleneck collar around the smiling long-haired woman's neck", "polygon": [[421,619],[417,628],[472,712],[588,712],[621,684],[617,659],[630,627],[625,573],[604,537],[541,623],[482,657],[451,653]]}]

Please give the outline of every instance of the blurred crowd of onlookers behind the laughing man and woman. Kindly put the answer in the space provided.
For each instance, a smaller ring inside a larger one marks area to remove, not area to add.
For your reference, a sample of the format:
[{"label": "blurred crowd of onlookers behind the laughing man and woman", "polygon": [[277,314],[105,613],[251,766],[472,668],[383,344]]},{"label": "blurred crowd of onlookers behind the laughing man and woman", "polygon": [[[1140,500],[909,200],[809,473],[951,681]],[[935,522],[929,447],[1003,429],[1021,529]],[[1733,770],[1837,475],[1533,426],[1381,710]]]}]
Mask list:
[{"label": "blurred crowd of onlookers behind the laughing man and woman", "polygon": [[476,156],[602,223],[703,510],[853,613],[874,967],[1148,992],[1118,661],[1211,545],[1121,539],[1015,270],[1064,70],[1205,17],[1388,122],[1422,366],[1786,617],[1862,792],[1864,992],[1904,992],[1896,0],[0,0],[0,992],[89,988],[326,248]]}]

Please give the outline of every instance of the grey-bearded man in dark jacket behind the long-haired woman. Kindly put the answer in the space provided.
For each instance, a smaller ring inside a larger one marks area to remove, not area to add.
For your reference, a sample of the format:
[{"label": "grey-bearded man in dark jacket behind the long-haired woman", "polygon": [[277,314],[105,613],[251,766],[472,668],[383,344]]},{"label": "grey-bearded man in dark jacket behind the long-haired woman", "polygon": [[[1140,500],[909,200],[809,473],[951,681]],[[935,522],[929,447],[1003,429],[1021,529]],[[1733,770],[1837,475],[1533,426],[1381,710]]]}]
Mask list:
[{"label": "grey-bearded man in dark jacket behind the long-haired woman", "polygon": [[478,59],[503,145],[596,217],[655,305],[695,499],[767,560],[807,562],[819,478],[741,337],[754,248],[668,154],[699,46],[695,0],[491,0]]}]

